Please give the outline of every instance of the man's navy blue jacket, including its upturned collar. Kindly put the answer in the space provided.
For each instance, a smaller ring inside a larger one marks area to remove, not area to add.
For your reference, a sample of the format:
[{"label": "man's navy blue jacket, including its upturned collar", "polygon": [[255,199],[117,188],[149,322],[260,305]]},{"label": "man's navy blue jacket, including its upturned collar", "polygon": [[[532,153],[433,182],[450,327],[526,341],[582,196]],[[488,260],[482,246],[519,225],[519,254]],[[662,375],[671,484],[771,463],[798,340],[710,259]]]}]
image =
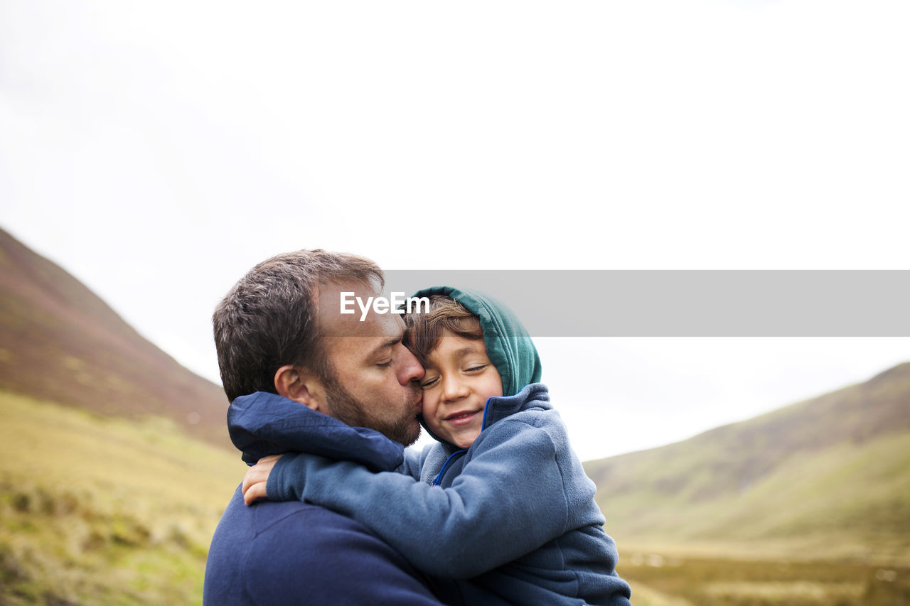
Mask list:
[{"label": "man's navy blue jacket, including its upturned collar", "polygon": [[[397,442],[272,394],[235,399],[227,423],[248,462],[298,450],[356,460],[364,470],[402,463]],[[203,589],[203,603],[212,606],[438,606],[440,599],[458,603],[452,596],[358,521],[300,501],[247,507],[239,487],[215,530]]]}]

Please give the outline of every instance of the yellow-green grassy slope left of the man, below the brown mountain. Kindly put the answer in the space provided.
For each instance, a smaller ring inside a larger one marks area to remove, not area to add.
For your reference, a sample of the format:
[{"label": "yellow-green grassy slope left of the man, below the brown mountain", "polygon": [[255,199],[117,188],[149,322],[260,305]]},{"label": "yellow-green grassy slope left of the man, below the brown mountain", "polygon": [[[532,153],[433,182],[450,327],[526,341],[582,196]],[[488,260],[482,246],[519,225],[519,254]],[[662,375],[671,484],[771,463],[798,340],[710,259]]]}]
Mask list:
[{"label": "yellow-green grassy slope left of the man, below the brown mountain", "polygon": [[0,603],[198,603],[245,469],[169,420],[0,392]]}]

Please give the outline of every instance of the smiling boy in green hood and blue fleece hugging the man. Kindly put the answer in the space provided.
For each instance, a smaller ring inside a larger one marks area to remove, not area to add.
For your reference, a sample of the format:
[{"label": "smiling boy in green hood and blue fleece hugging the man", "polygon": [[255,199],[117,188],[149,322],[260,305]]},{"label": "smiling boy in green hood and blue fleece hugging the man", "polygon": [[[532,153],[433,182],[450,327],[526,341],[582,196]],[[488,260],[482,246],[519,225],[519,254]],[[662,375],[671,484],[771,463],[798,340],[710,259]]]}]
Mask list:
[{"label": "smiling boy in green hood and blue fleece hugging the man", "polygon": [[426,369],[422,420],[439,443],[407,451],[398,474],[314,455],[263,460],[244,480],[245,499],[268,478],[270,500],[338,510],[421,571],[463,580],[467,604],[629,604],[594,484],[537,382],[527,332],[476,292],[415,296],[430,297],[430,312],[406,318],[408,345]]}]

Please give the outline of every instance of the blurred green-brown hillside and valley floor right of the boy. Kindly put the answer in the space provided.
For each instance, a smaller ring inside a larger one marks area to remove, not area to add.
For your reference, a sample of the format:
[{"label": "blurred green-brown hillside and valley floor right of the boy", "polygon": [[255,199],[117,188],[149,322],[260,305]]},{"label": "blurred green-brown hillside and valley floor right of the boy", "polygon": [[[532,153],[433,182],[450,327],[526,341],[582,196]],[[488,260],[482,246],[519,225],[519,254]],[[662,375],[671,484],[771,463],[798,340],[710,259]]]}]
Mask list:
[{"label": "blurred green-brown hillside and valley floor right of the boy", "polygon": [[910,601],[910,364],[585,468],[638,606]]}]

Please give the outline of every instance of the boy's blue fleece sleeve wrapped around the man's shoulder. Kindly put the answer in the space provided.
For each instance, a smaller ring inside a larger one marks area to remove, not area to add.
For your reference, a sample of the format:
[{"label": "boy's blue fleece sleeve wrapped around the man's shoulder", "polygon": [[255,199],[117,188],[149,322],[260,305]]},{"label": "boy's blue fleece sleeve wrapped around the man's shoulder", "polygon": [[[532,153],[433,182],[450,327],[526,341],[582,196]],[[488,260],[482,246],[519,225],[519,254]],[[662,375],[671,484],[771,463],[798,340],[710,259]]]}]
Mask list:
[{"label": "boy's blue fleece sleeve wrapped around the man's shoulder", "polygon": [[278,460],[268,480],[269,498],[339,511],[375,531],[421,571],[470,578],[568,530],[568,502],[550,434],[511,419],[488,431],[449,488],[372,473],[349,461],[297,455]]}]

